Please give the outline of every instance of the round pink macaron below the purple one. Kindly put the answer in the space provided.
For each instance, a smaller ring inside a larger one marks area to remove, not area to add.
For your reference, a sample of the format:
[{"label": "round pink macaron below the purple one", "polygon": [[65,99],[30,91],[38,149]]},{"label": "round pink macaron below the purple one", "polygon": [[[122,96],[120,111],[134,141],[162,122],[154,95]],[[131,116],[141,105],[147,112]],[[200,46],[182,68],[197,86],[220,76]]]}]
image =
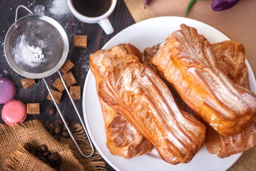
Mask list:
[{"label": "round pink macaron below the purple one", "polygon": [[26,106],[18,100],[9,101],[3,106],[2,119],[7,125],[23,123],[26,115]]}]

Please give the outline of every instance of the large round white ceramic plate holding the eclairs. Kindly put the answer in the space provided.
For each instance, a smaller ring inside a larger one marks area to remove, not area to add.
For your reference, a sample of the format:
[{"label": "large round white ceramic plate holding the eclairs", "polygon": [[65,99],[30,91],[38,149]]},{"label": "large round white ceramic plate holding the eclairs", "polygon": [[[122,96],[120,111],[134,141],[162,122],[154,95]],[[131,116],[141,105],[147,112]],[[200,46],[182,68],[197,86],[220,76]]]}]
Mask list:
[{"label": "large round white ceramic plate holding the eclairs", "polygon": [[[109,49],[120,43],[131,43],[144,51],[144,48],[161,43],[173,31],[180,29],[180,24],[195,27],[199,34],[203,34],[210,43],[229,40],[227,36],[211,26],[196,20],[183,17],[157,17],[136,23],[116,34],[103,49]],[[250,87],[255,93],[256,82],[253,71],[246,61],[249,71]],[[93,144],[102,157],[116,170],[123,171],[225,171],[241,156],[241,154],[220,159],[209,154],[202,148],[195,157],[186,164],[171,165],[163,161],[153,149],[150,154],[144,154],[132,159],[112,155],[106,146],[106,136],[101,105],[96,93],[95,78],[89,70],[83,92],[84,120]]]}]

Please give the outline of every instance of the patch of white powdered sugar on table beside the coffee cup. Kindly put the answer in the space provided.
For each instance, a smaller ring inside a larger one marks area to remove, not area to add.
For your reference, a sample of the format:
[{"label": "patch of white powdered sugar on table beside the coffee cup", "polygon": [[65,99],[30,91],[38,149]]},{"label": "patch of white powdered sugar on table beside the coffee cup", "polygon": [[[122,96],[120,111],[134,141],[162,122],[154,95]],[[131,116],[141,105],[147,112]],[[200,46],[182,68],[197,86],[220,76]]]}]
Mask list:
[{"label": "patch of white powdered sugar on table beside the coffee cup", "polygon": [[57,17],[64,14],[71,14],[67,0],[53,0],[49,11]]}]

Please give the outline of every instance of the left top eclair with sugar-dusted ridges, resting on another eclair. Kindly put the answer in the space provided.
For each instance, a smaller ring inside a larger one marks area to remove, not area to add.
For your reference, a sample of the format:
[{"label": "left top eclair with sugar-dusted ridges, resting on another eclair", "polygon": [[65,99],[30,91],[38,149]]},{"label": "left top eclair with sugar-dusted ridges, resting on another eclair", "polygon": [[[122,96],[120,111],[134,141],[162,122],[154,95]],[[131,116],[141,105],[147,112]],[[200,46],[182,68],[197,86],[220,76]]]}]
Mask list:
[{"label": "left top eclair with sugar-dusted ridges, resting on another eclair", "polygon": [[[90,63],[108,63],[99,83],[99,97],[134,125],[171,164],[189,162],[202,148],[205,125],[181,112],[167,85],[134,55],[101,50]],[[100,57],[100,59],[99,59]]]}]

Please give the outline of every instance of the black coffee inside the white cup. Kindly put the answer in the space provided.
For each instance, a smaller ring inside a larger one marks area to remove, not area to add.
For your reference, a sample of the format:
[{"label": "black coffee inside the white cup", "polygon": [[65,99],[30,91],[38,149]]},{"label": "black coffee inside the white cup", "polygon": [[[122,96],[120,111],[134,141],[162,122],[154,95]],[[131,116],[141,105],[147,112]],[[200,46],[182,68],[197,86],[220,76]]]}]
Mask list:
[{"label": "black coffee inside the white cup", "polygon": [[112,0],[72,0],[72,3],[80,14],[86,17],[99,17],[108,11]]}]

